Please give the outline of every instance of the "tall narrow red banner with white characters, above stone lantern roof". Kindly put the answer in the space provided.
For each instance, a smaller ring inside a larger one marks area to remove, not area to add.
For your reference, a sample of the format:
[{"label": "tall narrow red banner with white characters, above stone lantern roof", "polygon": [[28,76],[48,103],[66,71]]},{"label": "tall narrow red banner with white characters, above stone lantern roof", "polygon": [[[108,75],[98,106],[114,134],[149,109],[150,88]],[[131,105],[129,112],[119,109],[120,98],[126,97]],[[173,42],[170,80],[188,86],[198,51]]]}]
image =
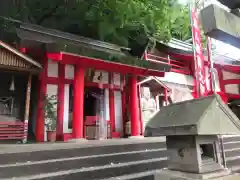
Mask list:
[{"label": "tall narrow red banner with white characters, above stone lantern roof", "polygon": [[191,8],[191,22],[192,22],[192,35],[194,44],[194,56],[195,56],[195,78],[196,78],[196,90],[198,96],[202,97],[207,94],[205,67],[203,46],[201,41],[201,30],[198,15],[195,8]]}]

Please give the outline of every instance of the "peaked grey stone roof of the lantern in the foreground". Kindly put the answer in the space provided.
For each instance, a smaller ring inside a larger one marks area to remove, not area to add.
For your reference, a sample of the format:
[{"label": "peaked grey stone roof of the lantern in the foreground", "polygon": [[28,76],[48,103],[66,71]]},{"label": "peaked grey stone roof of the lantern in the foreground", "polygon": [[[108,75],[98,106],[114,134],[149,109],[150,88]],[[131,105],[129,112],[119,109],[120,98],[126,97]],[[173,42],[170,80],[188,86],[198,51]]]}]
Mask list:
[{"label": "peaked grey stone roof of the lantern in the foreground", "polygon": [[147,124],[145,135],[236,135],[240,120],[218,95],[161,108]]}]

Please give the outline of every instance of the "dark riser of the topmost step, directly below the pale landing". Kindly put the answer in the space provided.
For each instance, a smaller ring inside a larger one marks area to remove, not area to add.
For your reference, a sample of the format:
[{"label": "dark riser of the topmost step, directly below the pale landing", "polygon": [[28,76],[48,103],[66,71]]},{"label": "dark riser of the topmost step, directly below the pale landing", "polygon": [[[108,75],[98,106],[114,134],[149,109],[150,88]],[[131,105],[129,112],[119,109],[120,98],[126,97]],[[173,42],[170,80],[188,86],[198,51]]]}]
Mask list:
[{"label": "dark riser of the topmost step, directly below the pale landing", "polygon": [[[91,143],[91,142],[90,142]],[[71,145],[70,145],[71,146]],[[34,161],[43,161],[49,159],[58,159],[58,158],[72,158],[72,157],[87,157],[95,155],[108,155],[112,153],[129,153],[138,151],[149,151],[149,150],[165,150],[165,143],[143,143],[143,144],[126,144],[126,145],[112,145],[112,146],[94,146],[86,148],[73,147],[60,150],[42,150],[42,151],[30,151],[23,153],[5,153],[1,154],[0,166],[4,164],[14,164],[24,163],[24,162],[34,162]]]}]

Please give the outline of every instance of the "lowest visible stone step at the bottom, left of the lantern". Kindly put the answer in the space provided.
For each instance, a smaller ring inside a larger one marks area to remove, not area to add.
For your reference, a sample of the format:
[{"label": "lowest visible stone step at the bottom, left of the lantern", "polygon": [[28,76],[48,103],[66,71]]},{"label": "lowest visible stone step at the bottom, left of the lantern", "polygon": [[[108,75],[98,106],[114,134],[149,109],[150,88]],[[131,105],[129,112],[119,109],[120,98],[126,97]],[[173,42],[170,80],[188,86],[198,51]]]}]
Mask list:
[{"label": "lowest visible stone step at the bottom, left of the lantern", "polygon": [[[41,173],[35,176],[25,176],[22,179],[41,179],[41,180],[99,180],[112,178],[125,175],[133,175],[133,173],[143,173],[149,170],[157,170],[158,168],[163,168],[166,166],[166,162],[162,159],[153,159],[146,161],[136,161],[132,163],[122,163],[118,165],[109,165],[102,167],[92,167],[84,169],[71,169],[70,171],[57,171],[55,173]],[[150,176],[149,174],[148,176]],[[141,176],[140,176],[141,177]],[[146,176],[145,176],[146,177]],[[127,177],[129,179],[129,177]],[[147,177],[146,177],[147,178]],[[5,178],[8,180],[8,178]],[[10,180],[10,178],[9,178]],[[21,180],[21,179],[19,179]]]}]

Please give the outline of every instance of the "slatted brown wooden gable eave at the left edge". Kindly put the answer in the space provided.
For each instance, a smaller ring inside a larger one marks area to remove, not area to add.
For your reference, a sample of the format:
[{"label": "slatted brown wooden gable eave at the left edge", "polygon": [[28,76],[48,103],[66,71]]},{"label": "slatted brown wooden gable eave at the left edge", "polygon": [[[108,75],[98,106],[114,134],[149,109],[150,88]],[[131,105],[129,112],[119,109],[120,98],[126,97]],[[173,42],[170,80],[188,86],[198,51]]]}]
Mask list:
[{"label": "slatted brown wooden gable eave at the left edge", "polygon": [[14,71],[38,72],[42,69],[42,66],[29,56],[0,41],[0,68]]}]

